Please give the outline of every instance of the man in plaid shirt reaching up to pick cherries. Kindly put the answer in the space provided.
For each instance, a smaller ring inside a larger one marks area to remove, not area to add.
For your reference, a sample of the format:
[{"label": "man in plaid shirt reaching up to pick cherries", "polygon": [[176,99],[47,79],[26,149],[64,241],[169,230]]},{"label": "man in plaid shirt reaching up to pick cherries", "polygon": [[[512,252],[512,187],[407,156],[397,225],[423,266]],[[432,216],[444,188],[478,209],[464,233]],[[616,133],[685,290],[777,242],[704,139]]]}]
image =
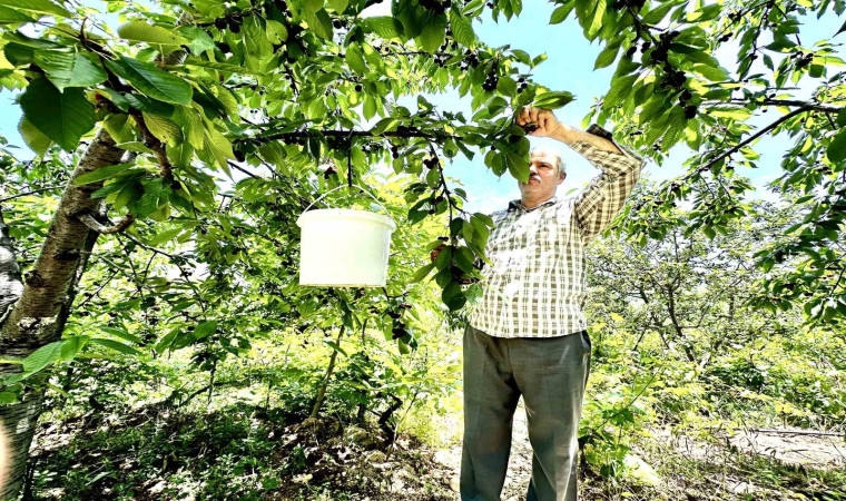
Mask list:
[{"label": "man in plaid shirt reaching up to pick cherries", "polygon": [[550,149],[531,153],[520,200],[492,214],[484,294],[464,332],[463,501],[499,501],[520,395],[533,450],[529,501],[576,501],[577,432],[590,372],[584,245],[622,208],[643,160],[593,125],[582,131],[550,110],[524,108],[520,126],[557,139],[602,171],[559,199],[567,177]]}]

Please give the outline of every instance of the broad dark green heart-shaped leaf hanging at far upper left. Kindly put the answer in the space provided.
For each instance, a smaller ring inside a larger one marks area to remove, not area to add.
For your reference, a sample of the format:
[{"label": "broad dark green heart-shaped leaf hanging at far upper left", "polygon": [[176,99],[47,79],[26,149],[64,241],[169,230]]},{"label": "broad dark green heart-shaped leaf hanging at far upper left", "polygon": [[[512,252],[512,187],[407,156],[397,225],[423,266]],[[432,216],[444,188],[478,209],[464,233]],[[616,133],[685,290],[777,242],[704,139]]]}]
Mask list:
[{"label": "broad dark green heart-shaped leaf hanging at far upper left", "polygon": [[20,97],[20,106],[27,120],[66,151],[77,149],[79,139],[95,125],[94,106],[82,89],[60,92],[46,78],[29,84]]}]

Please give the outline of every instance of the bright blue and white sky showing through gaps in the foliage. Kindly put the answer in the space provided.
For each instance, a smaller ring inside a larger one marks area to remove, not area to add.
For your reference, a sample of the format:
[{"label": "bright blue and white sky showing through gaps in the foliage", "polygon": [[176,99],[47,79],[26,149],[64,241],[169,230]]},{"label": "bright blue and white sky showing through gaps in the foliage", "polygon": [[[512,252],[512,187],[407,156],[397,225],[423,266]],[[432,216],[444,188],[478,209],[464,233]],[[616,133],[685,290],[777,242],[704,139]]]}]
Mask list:
[{"label": "bright blue and white sky showing through gaps in the foliage", "polygon": [[[86,2],[90,6],[105,10],[104,2]],[[555,111],[560,120],[579,127],[582,118],[589,112],[589,108],[596,98],[608,89],[614,66],[593,70],[593,62],[601,48],[598,43],[589,43],[574,18],[569,18],[562,24],[550,26],[549,18],[554,6],[539,0],[524,0],[523,12],[519,18],[511,21],[501,19],[495,23],[491,19],[474,26],[480,40],[490,46],[511,45],[528,51],[532,57],[547,53],[548,60],[534,71],[534,80],[555,90],[569,90],[576,96],[576,100],[567,107]],[[387,13],[390,2],[374,6],[373,14]],[[114,19],[114,18],[112,18]],[[801,29],[801,42],[805,47],[813,46],[820,38],[833,36],[840,27],[843,20],[829,13],[822,20],[807,17]],[[835,41],[839,41],[838,39]],[[736,67],[737,46],[727,45],[716,55],[721,65],[732,70]],[[754,71],[752,71],[754,72]],[[819,80],[805,79],[799,82],[801,88],[798,96],[807,97],[810,89],[816,87]],[[443,110],[469,111],[469,98],[462,99],[458,95],[432,96],[431,100]],[[413,107],[413,106],[410,106]],[[750,122],[755,126],[765,125],[777,117],[773,110],[754,118]],[[0,92],[0,135],[6,136],[12,144],[23,147],[23,143],[17,131],[20,119],[20,110],[12,100],[11,92]],[[612,124],[606,126],[613,128]],[[758,161],[759,168],[755,170],[739,171],[752,178],[756,186],[764,186],[777,176],[780,157],[789,146],[788,138],[761,139],[756,149],[761,154]],[[567,146],[549,139],[531,139],[533,146],[555,146],[562,154],[568,166],[568,178],[559,188],[559,196],[586,185],[593,176],[599,174],[586,159],[570,150]],[[677,145],[661,167],[649,163],[646,175],[651,179],[667,179],[682,173],[681,164],[690,155],[696,155],[683,145]],[[19,155],[29,158],[31,154]],[[468,190],[470,200],[465,206],[469,210],[491,213],[503,208],[508,200],[519,198],[520,191],[517,181],[508,174],[501,178],[494,176],[484,166],[482,158],[476,156],[472,161],[463,157],[446,166],[446,175],[460,180]],[[766,196],[763,191],[758,196]]]}]

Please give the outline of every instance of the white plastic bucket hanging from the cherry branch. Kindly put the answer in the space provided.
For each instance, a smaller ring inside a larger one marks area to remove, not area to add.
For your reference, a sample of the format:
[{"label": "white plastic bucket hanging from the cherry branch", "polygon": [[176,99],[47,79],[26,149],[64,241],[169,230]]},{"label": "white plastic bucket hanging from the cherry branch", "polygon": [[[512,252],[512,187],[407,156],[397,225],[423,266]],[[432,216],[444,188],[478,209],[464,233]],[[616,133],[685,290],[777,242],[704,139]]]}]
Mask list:
[{"label": "white plastic bucket hanging from the cherry branch", "polygon": [[390,217],[366,210],[306,208],[297,226],[303,228],[299,285],[384,287],[391,233],[396,229]]}]

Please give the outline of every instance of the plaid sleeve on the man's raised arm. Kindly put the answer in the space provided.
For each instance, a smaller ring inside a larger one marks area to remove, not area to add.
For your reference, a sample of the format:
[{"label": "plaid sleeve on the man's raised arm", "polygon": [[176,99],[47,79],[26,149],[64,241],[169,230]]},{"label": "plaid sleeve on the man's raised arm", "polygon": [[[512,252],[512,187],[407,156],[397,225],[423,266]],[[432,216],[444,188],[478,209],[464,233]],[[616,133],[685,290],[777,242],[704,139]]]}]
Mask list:
[{"label": "plaid sleeve on the man's raised arm", "polygon": [[[601,134],[597,134],[598,131]],[[611,135],[599,126],[592,125],[588,132],[611,140]],[[611,140],[611,143],[614,141]],[[628,151],[617,143],[614,146],[620,148],[622,154],[599,149],[587,141],[576,141],[570,145],[594,167],[602,170],[576,197],[574,202],[576,218],[586,243],[606,229],[617,216],[646,165],[641,157]]]}]

